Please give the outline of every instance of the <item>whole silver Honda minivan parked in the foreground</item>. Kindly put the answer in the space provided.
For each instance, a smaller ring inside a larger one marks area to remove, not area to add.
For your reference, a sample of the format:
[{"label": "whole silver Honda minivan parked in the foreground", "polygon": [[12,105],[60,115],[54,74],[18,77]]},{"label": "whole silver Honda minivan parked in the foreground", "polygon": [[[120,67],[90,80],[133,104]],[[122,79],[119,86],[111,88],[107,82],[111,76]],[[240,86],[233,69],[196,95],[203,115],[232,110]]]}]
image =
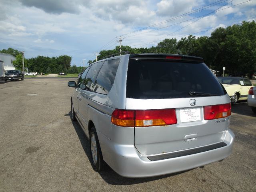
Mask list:
[{"label": "whole silver Honda minivan parked in the foreground", "polygon": [[89,138],[96,171],[107,163],[124,177],[157,176],[232,152],[230,98],[202,58],[115,56],[90,64],[68,86],[72,120]]}]

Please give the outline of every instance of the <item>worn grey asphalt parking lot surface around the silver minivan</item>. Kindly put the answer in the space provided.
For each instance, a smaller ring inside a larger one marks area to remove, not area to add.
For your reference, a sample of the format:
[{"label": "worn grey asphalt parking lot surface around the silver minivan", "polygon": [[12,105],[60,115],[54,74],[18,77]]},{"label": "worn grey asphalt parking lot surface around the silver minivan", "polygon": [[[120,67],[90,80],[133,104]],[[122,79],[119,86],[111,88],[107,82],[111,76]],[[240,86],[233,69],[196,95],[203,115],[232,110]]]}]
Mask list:
[{"label": "worn grey asphalt parking lot surface around the silver minivan", "polygon": [[[256,115],[232,106],[232,155],[221,162],[152,178],[94,172],[89,142],[72,123],[72,79],[0,82],[0,191],[256,191]],[[76,78],[74,78],[76,80]]]}]

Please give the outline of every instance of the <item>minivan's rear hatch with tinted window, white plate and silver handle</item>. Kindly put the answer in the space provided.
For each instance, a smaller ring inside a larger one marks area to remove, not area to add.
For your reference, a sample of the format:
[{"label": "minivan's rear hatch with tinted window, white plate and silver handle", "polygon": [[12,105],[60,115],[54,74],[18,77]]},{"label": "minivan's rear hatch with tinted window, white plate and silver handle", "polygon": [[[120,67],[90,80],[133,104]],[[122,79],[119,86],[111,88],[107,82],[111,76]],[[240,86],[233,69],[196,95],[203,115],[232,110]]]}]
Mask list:
[{"label": "minivan's rear hatch with tinted window, white plate and silver handle", "polygon": [[[138,126],[134,127],[134,145],[143,155],[222,142],[229,114],[218,118],[218,123],[216,119],[205,120],[204,111],[206,106],[218,107],[229,102],[226,91],[202,58],[130,55],[126,110],[135,110],[139,118],[135,120]],[[161,124],[161,116],[164,119],[168,115],[171,120],[167,121],[171,123]]]}]

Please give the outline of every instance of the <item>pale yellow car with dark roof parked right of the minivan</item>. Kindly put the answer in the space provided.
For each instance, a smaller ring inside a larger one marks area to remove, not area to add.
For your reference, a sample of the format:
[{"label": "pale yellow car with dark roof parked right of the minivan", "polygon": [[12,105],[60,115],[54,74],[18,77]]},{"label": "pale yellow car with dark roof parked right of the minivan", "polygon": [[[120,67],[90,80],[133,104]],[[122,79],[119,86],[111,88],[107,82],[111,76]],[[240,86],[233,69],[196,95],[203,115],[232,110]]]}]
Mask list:
[{"label": "pale yellow car with dark roof parked right of the minivan", "polygon": [[247,99],[248,90],[252,86],[250,80],[241,77],[218,77],[218,80],[228,92],[232,104]]}]

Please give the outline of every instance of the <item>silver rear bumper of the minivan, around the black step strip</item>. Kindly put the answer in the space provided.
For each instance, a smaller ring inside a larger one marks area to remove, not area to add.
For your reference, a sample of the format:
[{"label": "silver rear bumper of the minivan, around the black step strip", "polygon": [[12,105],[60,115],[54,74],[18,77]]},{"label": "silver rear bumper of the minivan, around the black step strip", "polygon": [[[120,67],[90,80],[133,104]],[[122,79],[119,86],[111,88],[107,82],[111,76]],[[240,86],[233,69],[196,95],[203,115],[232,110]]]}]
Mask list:
[{"label": "silver rear bumper of the minivan, around the black step strip", "polygon": [[102,151],[104,160],[115,172],[124,177],[170,174],[222,160],[231,154],[235,138],[234,133],[227,130],[223,140],[226,146],[196,154],[151,161],[148,156],[139,154],[134,145],[115,144],[101,133],[98,136],[100,140],[104,140],[106,145],[104,148],[108,150],[106,153]]}]

